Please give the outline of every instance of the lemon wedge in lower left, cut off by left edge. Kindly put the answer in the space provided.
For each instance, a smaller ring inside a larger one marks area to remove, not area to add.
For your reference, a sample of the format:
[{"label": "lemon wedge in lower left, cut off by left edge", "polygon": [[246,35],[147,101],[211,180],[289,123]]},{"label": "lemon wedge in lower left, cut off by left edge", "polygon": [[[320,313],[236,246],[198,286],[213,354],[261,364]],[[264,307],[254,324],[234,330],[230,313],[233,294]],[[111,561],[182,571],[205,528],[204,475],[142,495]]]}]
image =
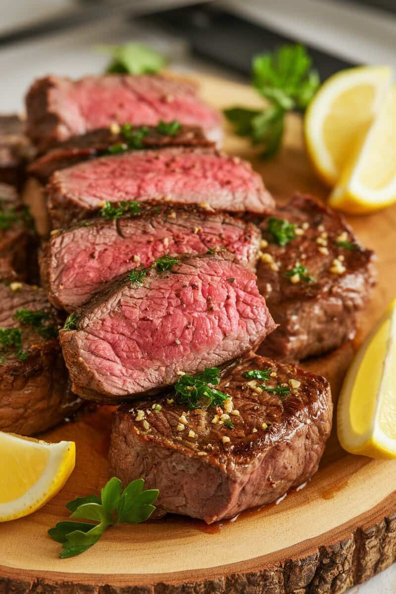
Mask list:
[{"label": "lemon wedge in lower left, cut off by left edge", "polygon": [[0,522],[42,507],[64,486],[74,465],[74,441],[49,444],[0,431]]}]

